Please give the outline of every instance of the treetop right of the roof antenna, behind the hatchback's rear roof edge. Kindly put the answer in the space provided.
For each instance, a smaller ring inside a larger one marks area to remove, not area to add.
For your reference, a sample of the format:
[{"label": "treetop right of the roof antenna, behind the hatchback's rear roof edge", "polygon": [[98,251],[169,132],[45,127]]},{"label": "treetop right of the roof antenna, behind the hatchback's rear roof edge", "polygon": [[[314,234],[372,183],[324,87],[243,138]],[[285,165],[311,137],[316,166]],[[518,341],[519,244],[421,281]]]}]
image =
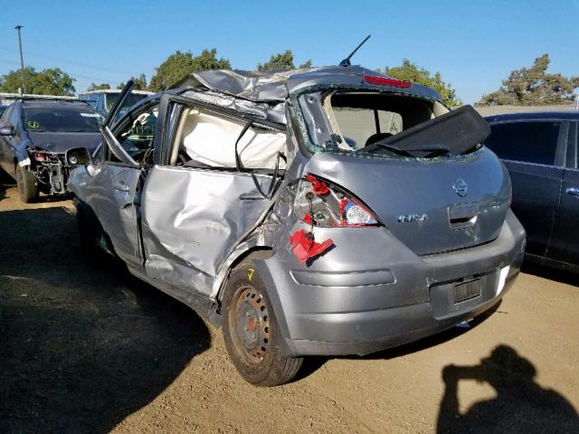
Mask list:
[{"label": "treetop right of the roof antenna, behind the hatchback's rear roof edge", "polygon": [[442,102],[447,106],[459,107],[462,105],[462,100],[457,97],[456,90],[452,89],[451,83],[445,83],[442,80],[440,72],[435,72],[432,75],[430,71],[418,67],[408,59],[403,59],[400,66],[386,67],[384,74],[394,77],[394,79],[412,81],[436,90],[441,94]]}]

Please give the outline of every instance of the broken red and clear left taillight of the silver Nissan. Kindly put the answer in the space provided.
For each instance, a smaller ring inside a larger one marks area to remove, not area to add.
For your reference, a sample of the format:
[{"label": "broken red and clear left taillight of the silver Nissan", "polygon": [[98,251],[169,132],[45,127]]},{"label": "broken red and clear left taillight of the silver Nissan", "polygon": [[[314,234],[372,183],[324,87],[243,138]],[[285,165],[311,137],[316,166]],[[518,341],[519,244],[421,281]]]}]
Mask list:
[{"label": "broken red and clear left taillight of the silver Nissan", "polygon": [[306,175],[300,181],[294,212],[303,222],[319,227],[379,224],[375,214],[351,193],[314,175]]}]

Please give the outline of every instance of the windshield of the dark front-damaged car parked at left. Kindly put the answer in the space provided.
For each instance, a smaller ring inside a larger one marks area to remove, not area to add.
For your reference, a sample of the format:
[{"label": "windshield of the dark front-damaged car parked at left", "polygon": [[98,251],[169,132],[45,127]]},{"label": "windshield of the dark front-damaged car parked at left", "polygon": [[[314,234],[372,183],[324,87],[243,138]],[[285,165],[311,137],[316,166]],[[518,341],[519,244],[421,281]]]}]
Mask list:
[{"label": "windshield of the dark front-damaged car parked at left", "polygon": [[84,107],[24,107],[24,128],[32,132],[99,132],[99,113]]}]

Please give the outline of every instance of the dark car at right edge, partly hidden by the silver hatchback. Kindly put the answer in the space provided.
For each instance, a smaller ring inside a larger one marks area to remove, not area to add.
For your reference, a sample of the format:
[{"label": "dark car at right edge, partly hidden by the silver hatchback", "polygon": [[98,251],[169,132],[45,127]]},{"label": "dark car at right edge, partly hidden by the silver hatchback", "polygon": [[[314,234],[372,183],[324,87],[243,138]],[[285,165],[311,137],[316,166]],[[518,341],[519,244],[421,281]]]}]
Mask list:
[{"label": "dark car at right edge, partly hidden by the silver hatchback", "polygon": [[527,230],[527,258],[559,269],[579,266],[579,112],[488,117],[485,145],[513,183],[513,211]]}]

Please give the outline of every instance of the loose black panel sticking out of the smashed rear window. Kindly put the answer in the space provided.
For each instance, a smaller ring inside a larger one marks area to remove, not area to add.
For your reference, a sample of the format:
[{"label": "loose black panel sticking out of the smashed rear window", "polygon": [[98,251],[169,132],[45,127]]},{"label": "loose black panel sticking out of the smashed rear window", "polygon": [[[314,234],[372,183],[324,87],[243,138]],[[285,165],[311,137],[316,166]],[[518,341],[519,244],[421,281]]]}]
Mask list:
[{"label": "loose black panel sticking out of the smashed rear window", "polygon": [[415,157],[458,156],[489,137],[487,121],[471,106],[452,110],[365,146],[365,152],[394,152]]}]

